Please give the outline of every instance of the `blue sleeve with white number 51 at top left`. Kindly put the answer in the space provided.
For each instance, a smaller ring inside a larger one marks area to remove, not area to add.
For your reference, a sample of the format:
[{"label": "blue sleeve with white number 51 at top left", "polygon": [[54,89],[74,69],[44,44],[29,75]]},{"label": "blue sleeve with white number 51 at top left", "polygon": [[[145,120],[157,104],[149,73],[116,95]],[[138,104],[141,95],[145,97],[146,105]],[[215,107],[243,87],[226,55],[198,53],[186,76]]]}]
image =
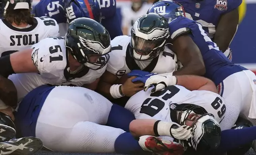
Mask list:
[{"label": "blue sleeve with white number 51 at top left", "polygon": [[34,8],[35,17],[47,16],[55,19],[57,23],[66,23],[66,13],[62,0],[41,0]]}]

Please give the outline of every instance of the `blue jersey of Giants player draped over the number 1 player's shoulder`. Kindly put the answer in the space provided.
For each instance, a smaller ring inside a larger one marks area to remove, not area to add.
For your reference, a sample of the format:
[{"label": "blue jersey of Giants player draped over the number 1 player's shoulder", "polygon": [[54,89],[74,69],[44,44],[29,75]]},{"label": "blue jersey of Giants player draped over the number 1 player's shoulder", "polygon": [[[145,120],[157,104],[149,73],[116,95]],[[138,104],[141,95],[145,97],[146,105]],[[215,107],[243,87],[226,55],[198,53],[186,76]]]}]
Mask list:
[{"label": "blue jersey of Giants player draped over the number 1 player's shoulder", "polygon": [[206,67],[205,77],[211,79],[215,85],[221,83],[226,77],[247,70],[246,68],[235,65],[223,53],[219,51],[216,43],[212,42],[202,25],[185,17],[178,17],[169,23],[171,39],[175,39],[183,32],[191,31],[189,34],[194,43],[200,49]]}]

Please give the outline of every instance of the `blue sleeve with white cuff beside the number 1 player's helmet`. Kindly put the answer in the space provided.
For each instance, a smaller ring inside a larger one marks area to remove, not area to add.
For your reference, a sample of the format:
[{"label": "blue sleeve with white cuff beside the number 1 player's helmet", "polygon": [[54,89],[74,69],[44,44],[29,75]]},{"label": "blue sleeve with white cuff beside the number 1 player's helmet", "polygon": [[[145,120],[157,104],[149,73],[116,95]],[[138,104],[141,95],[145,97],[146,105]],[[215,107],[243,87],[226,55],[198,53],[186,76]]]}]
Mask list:
[{"label": "blue sleeve with white cuff beside the number 1 player's helmet", "polygon": [[169,23],[169,32],[172,40],[175,40],[180,35],[187,34],[191,30],[189,25],[192,23],[192,20],[187,19],[186,17],[177,17]]}]

